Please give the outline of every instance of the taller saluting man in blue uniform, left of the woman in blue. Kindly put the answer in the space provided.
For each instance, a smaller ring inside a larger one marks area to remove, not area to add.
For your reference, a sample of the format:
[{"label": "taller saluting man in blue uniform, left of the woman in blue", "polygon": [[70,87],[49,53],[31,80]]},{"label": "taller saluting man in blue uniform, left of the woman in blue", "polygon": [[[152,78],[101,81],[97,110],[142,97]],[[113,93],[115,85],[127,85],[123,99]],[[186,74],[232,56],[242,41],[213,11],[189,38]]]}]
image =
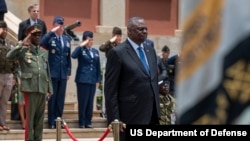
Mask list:
[{"label": "taller saluting man in blue uniform, left of the woman in blue", "polygon": [[53,84],[53,96],[48,101],[48,123],[55,128],[55,119],[63,115],[67,81],[71,75],[71,43],[63,34],[64,19],[56,16],[53,28],[41,39],[40,45],[49,52],[49,66]]}]

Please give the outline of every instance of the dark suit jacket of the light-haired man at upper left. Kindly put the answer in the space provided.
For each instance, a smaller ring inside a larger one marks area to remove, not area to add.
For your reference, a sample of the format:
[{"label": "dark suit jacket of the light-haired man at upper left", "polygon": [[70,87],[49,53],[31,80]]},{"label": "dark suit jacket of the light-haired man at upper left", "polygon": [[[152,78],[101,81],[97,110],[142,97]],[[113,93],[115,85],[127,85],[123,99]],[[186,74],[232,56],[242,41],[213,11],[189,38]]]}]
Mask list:
[{"label": "dark suit jacket of the light-haired man at upper left", "polygon": [[[42,36],[47,33],[47,27],[44,21],[37,19],[37,23],[42,26]],[[26,37],[26,28],[30,25],[30,19],[22,21],[18,27],[18,41],[23,40]]]}]

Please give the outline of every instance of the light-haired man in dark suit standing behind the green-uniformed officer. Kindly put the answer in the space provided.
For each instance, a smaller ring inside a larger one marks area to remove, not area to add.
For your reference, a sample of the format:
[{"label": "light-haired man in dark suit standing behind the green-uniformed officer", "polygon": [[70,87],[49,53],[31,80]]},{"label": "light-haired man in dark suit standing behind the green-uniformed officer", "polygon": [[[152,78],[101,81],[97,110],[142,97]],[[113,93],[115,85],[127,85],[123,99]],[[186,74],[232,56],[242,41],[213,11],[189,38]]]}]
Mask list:
[{"label": "light-haired man in dark suit standing behind the green-uniformed officer", "polygon": [[29,12],[29,19],[22,21],[19,24],[19,28],[18,28],[18,41],[23,40],[26,35],[25,35],[25,31],[26,28],[30,25],[33,25],[35,23],[41,25],[42,27],[42,36],[47,32],[47,27],[46,24],[43,20],[38,19],[38,15],[39,15],[39,5],[38,4],[32,4],[28,7],[28,12]]}]

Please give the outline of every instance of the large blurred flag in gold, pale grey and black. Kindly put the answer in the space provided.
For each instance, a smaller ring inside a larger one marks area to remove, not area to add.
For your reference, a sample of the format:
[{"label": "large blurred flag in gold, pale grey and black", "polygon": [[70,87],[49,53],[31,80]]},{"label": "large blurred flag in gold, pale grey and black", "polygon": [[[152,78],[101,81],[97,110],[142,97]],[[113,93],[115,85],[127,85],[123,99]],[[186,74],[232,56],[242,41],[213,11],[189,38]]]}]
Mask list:
[{"label": "large blurred flag in gold, pale grey and black", "polygon": [[203,0],[184,20],[176,76],[178,124],[250,123],[249,4]]}]

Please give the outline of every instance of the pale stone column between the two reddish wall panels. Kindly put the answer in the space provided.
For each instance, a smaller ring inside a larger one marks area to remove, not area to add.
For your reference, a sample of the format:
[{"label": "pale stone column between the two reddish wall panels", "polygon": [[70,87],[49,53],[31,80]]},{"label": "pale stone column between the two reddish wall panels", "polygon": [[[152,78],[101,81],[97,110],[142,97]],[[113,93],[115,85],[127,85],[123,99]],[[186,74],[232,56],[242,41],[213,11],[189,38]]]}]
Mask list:
[{"label": "pale stone column between the two reddish wall panels", "polygon": [[100,0],[101,25],[96,27],[96,32],[111,33],[114,26],[125,29],[125,4],[124,0]]}]

